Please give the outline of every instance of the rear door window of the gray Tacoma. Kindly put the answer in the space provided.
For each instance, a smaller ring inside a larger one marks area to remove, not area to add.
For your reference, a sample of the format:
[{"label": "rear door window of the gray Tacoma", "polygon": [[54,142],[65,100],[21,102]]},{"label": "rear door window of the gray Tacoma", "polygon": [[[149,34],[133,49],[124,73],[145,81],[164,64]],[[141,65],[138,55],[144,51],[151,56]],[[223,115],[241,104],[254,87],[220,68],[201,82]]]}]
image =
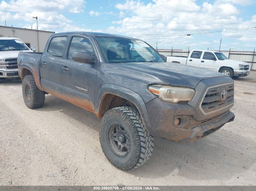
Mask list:
[{"label": "rear door window of the gray Tacoma", "polygon": [[48,47],[48,53],[51,56],[62,58],[67,40],[68,37],[53,37]]}]

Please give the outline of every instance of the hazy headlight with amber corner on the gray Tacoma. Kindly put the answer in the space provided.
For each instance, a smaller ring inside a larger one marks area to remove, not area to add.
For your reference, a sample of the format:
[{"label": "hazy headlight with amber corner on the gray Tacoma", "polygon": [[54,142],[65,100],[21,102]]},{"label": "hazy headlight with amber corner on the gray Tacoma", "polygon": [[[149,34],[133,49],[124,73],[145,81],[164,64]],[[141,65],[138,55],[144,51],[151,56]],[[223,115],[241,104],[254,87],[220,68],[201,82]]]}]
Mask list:
[{"label": "hazy headlight with amber corner on the gray Tacoma", "polygon": [[178,103],[179,101],[190,101],[195,91],[191,88],[172,87],[168,85],[150,85],[148,90],[158,96],[162,101]]}]

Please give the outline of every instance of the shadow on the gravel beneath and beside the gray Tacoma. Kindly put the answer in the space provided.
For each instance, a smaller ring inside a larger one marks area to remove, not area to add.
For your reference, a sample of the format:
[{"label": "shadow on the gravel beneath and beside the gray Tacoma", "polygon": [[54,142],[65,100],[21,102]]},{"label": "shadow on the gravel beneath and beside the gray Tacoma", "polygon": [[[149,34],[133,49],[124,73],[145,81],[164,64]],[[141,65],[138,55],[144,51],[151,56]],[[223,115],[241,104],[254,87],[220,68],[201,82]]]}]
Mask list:
[{"label": "shadow on the gravel beneath and beside the gray Tacoma", "polygon": [[[60,110],[95,131],[100,127],[100,120],[95,114],[52,95],[48,95],[44,107],[37,110]],[[227,123],[225,126],[234,125]],[[123,172],[145,178],[165,177],[170,181],[177,175],[191,180],[209,181],[239,177],[255,163],[256,144],[247,137],[226,130],[230,128],[225,126],[194,143],[175,143],[155,137],[154,151],[149,161],[138,169]]]}]

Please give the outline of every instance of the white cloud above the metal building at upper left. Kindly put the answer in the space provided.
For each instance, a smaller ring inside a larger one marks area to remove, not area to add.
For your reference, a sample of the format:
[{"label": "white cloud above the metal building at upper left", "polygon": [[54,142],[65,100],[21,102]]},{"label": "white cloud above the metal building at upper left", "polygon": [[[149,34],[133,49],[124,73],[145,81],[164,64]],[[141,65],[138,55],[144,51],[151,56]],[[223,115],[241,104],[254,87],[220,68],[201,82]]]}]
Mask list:
[{"label": "white cloud above the metal building at upper left", "polygon": [[[55,31],[58,28],[65,27],[72,21],[66,18],[60,11],[81,13],[85,8],[84,0],[17,0],[0,3],[0,21],[25,21],[30,24],[24,24],[23,27],[31,28],[32,17],[38,17],[39,30]],[[8,10],[8,11],[6,11]],[[32,24],[36,29],[36,24]]]}]

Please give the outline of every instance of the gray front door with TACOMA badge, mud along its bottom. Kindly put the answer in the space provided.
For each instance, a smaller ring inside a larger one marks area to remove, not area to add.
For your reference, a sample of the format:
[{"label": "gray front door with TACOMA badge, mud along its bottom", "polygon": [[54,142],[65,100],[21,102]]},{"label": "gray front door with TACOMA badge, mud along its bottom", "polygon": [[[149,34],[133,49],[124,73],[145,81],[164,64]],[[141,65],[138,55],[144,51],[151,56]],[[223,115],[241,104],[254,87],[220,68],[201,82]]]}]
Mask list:
[{"label": "gray front door with TACOMA badge, mud along its bottom", "polygon": [[[91,53],[94,64],[72,60],[74,52]],[[94,111],[95,81],[98,56],[92,41],[85,36],[71,36],[65,59],[62,62],[62,94],[64,99],[86,110]]]}]

